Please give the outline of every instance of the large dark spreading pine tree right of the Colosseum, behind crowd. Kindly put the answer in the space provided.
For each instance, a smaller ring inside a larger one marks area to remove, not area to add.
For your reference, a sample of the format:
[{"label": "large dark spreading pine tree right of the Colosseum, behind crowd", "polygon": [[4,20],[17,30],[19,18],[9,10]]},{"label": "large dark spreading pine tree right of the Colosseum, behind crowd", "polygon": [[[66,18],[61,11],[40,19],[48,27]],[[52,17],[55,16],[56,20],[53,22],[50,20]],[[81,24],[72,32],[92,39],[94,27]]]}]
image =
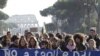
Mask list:
[{"label": "large dark spreading pine tree right of the Colosseum, behind crowd", "polygon": [[[96,21],[90,21],[90,15],[94,12],[94,0],[59,0],[53,6],[40,11],[42,16],[52,15],[59,20],[67,19],[68,25],[62,27],[66,27],[66,32],[72,33],[79,31],[84,23],[86,29],[89,29],[90,23]],[[85,18],[85,15],[88,17]],[[94,23],[91,24],[93,25]]]}]

